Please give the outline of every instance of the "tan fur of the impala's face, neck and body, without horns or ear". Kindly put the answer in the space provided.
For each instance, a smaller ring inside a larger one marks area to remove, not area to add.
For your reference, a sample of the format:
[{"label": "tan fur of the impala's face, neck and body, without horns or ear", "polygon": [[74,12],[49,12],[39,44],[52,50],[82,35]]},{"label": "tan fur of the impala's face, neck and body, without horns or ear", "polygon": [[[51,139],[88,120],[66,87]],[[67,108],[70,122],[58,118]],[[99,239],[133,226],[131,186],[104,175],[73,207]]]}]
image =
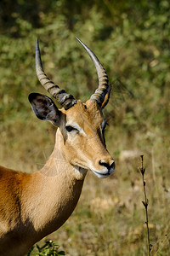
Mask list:
[{"label": "tan fur of the impala's face, neck and body, without horns or ear", "polygon": [[[0,166],[0,255],[20,256],[70,217],[82,192],[86,172],[111,166],[101,132],[103,115],[96,102],[59,110],[54,151],[42,170],[16,172]],[[76,124],[82,132],[66,132]]]}]

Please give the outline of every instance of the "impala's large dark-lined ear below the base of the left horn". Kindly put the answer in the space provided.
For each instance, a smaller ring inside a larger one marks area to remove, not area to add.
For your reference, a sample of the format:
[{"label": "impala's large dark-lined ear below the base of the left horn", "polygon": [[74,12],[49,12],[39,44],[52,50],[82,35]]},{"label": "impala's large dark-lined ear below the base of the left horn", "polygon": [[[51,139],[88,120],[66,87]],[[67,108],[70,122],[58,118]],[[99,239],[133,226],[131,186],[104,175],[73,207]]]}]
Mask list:
[{"label": "impala's large dark-lined ear below the base of the left horn", "polygon": [[38,119],[48,120],[52,124],[59,126],[61,112],[48,96],[39,93],[31,93],[28,99]]}]

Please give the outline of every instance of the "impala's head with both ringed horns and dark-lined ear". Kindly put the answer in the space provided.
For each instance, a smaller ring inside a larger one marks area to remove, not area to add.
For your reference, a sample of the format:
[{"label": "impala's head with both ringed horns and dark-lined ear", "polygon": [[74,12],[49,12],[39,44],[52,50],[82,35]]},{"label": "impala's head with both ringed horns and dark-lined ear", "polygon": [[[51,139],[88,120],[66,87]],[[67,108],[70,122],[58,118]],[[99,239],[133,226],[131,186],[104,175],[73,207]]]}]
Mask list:
[{"label": "impala's head with both ringed horns and dark-lined ear", "polygon": [[102,109],[109,101],[111,84],[108,82],[105,68],[99,62],[87,45],[81,40],[84,49],[90,55],[96,67],[99,87],[90,99],[83,103],[76,100],[65,90],[59,89],[44,73],[37,41],[36,47],[36,70],[37,78],[42,86],[54,96],[63,108],[58,109],[52,99],[38,93],[31,93],[29,101],[37,117],[48,120],[59,127],[59,150],[65,161],[75,168],[83,177],[88,170],[94,172],[97,177],[109,177],[114,172],[114,160],[105,146],[105,119]]}]

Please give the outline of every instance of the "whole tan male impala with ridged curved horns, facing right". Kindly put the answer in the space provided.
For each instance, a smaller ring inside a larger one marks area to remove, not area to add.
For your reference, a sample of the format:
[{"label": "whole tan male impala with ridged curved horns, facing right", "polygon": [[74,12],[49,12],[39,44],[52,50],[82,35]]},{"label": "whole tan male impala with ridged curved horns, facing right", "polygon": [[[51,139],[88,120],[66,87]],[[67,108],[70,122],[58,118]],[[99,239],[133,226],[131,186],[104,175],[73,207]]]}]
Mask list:
[{"label": "whole tan male impala with ridged curved horns, facing right", "polygon": [[39,172],[0,167],[1,256],[24,255],[35,242],[59,229],[77,206],[88,170],[97,177],[109,177],[114,171],[114,160],[105,147],[102,114],[111,85],[98,58],[78,41],[94,61],[99,77],[99,87],[86,103],[75,100],[48,79],[37,42],[37,78],[63,108],[58,109],[48,96],[29,96],[37,117],[59,129],[54,151]]}]

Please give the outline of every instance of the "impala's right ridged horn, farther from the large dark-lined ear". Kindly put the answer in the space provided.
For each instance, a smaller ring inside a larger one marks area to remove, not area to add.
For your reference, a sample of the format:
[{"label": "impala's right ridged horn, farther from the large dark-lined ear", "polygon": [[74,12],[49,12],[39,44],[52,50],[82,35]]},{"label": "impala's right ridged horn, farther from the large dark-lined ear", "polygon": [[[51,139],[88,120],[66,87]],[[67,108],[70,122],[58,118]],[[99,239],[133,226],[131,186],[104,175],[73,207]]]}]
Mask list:
[{"label": "impala's right ridged horn, farther from the large dark-lined ear", "polygon": [[[98,86],[98,89],[95,90],[94,94],[90,97],[90,99],[94,102],[98,102],[99,105],[104,108],[107,102],[109,101],[109,96],[111,92],[111,84],[109,84],[108,76],[105,72],[105,68],[101,65],[101,63],[99,62],[99,59],[97,58],[96,55],[94,55],[93,51],[89,49],[86,44],[83,44],[79,38],[77,38],[77,40],[79,41],[80,44],[82,44],[84,49],[86,49],[86,51],[88,52],[88,55],[94,62],[94,66],[98,73],[99,86]],[[107,95],[107,99],[105,99],[106,95]]]}]

